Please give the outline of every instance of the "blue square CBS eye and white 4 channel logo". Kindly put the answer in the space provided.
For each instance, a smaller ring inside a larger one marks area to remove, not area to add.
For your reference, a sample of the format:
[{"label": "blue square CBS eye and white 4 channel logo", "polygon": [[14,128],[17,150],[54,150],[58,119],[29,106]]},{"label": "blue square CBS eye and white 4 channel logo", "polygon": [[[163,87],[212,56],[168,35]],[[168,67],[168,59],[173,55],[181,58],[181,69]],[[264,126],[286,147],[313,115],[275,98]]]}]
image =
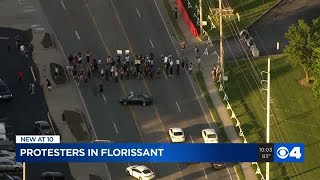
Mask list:
[{"label": "blue square CBS eye and white 4 channel logo", "polygon": [[304,162],[304,144],[274,144],[274,162]]}]

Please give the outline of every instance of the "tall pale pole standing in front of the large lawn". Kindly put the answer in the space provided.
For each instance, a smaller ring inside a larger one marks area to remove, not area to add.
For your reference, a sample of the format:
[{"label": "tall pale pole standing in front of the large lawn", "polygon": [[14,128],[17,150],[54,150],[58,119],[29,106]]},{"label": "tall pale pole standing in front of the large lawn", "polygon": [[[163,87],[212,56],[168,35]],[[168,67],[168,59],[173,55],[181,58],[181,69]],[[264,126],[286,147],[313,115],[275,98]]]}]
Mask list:
[{"label": "tall pale pole standing in front of the large lawn", "polygon": [[[266,128],[266,143],[270,143],[270,58],[268,58],[268,71],[262,71],[261,73],[267,74],[268,79],[262,80],[262,82],[267,82],[267,89],[263,89],[267,91],[267,128]],[[266,162],[266,180],[270,179],[270,163]]]}]

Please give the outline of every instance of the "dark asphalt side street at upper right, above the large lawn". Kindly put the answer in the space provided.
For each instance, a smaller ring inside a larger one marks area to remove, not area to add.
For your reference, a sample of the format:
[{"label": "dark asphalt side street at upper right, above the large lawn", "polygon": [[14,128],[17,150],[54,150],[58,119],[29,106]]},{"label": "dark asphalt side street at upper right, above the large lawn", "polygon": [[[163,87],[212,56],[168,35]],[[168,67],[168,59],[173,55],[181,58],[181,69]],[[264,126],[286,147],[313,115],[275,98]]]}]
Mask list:
[{"label": "dark asphalt side street at upper right, above the large lawn", "polygon": [[[310,22],[319,17],[320,1],[318,0],[285,0],[280,2],[276,8],[270,10],[265,16],[248,28],[250,36],[260,51],[260,56],[278,54],[288,41],[284,35],[291,24],[297,24],[298,19]],[[231,26],[232,32],[240,32],[236,26]],[[279,42],[279,50],[277,50]],[[219,42],[213,43],[213,49],[219,51]],[[251,57],[247,47],[239,42],[237,37],[227,38],[224,42],[225,60],[235,60]],[[219,52],[218,52],[219,53]]]}]

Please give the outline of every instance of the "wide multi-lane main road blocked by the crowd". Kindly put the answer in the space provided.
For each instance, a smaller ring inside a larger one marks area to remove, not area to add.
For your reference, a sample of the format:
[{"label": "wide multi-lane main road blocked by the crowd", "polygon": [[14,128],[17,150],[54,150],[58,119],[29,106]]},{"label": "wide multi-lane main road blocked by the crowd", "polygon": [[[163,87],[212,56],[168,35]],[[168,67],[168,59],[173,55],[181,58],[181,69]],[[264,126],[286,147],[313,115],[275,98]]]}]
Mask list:
[{"label": "wide multi-lane main road blocked by the crowd", "polygon": [[[172,39],[159,14],[161,1],[153,0],[40,0],[49,24],[54,29],[66,56],[90,50],[104,60],[116,50],[131,54],[153,52],[160,66],[160,54],[177,56]],[[104,82],[105,97],[96,92],[97,81],[80,86],[98,139],[115,142],[169,142],[168,129],[181,127],[187,142],[202,142],[201,130],[214,127],[205,116],[195,87],[186,73],[180,77],[156,80]],[[154,104],[147,107],[119,105],[119,97],[128,92],[146,92]],[[199,152],[201,153],[201,152]],[[157,179],[235,179],[233,168],[214,171],[209,163],[146,164]],[[127,179],[126,163],[107,164],[106,177]]]}]

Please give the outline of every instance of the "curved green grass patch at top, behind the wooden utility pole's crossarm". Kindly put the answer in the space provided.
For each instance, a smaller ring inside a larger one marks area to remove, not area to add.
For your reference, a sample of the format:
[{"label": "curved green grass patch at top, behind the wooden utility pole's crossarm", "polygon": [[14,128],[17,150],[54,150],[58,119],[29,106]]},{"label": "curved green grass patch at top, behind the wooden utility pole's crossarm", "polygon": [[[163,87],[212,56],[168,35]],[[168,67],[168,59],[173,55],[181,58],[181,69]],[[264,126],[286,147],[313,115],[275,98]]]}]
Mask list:
[{"label": "curved green grass patch at top, behind the wooden utility pole's crossarm", "polygon": [[[193,8],[188,9],[187,1],[183,1],[186,9],[188,10],[188,14],[190,19],[194,24],[197,22],[197,18],[194,17],[196,14],[195,5],[199,6],[199,0],[189,0],[192,4]],[[234,32],[239,32],[241,29],[246,28],[252,22],[254,22],[259,16],[261,16],[264,12],[266,12],[272,5],[274,5],[278,0],[228,0],[229,5],[233,8],[234,14],[239,13],[240,21],[238,21],[238,17],[236,15],[223,18],[224,22],[224,36],[230,36]],[[213,18],[213,23],[217,28],[211,30],[210,21],[207,18],[208,15],[213,17],[212,14],[215,12],[210,12],[209,7],[211,9],[218,8],[219,4],[216,1],[211,0],[202,0],[203,3],[203,20],[208,22],[208,26],[204,27],[204,29],[208,32],[209,36],[212,39],[219,38],[219,19]],[[226,3],[223,3],[223,7],[227,7]],[[235,25],[235,23],[237,26]],[[239,29],[239,30],[238,30]],[[199,29],[198,29],[199,30]]]}]

